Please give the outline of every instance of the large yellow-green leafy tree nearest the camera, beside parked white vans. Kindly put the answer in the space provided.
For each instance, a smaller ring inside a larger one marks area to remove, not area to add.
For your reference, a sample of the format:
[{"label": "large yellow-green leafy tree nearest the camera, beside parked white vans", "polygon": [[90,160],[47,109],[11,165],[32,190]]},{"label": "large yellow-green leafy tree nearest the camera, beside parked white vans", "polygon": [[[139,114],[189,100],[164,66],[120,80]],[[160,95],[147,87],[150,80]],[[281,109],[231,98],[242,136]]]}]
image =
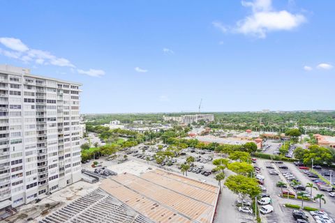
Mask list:
[{"label": "large yellow-green leafy tree nearest the camera, beside parked white vans", "polygon": [[[225,185],[234,194],[239,194],[242,200],[249,196],[251,198],[257,197],[260,193],[260,187],[258,186],[255,178],[248,178],[242,175],[230,175],[225,180]],[[243,205],[243,202],[242,202]]]}]

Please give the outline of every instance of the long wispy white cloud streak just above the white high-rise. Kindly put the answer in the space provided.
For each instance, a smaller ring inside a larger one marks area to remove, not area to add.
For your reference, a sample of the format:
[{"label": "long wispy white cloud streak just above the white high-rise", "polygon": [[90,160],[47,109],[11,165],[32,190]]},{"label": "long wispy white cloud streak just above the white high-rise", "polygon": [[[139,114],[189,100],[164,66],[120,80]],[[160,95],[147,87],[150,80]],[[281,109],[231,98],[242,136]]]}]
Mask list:
[{"label": "long wispy white cloud streak just above the white high-rise", "polygon": [[[52,53],[44,50],[29,49],[29,47],[22,43],[20,39],[3,37],[0,38],[0,43],[9,49],[5,50],[0,48],[0,54],[3,56],[7,56],[12,59],[18,59],[24,63],[34,61],[34,63],[38,65],[68,67],[70,68],[71,72],[75,72],[73,68],[76,68],[76,66],[73,65],[73,63],[71,63],[68,59],[54,56]],[[77,69],[77,72],[92,77],[101,77],[102,75],[105,75],[105,71],[94,69],[89,69],[86,71]]]}]

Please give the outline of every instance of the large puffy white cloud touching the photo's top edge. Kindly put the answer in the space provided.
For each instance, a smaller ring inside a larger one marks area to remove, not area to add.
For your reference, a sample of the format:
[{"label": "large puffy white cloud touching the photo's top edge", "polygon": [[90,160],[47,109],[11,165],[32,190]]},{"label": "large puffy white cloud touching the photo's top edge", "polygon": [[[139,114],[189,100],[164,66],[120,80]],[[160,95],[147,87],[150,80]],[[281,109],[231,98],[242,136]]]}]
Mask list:
[{"label": "large puffy white cloud touching the photo's top edge", "polygon": [[[244,35],[265,38],[271,31],[288,31],[297,28],[306,22],[306,17],[301,14],[292,14],[287,10],[274,10],[271,0],[242,1],[242,6],[251,7],[252,13],[243,20],[239,20],[230,29],[232,33],[242,33]],[[221,23],[213,23],[216,28],[221,29]],[[223,29],[221,29],[222,31]]]}]

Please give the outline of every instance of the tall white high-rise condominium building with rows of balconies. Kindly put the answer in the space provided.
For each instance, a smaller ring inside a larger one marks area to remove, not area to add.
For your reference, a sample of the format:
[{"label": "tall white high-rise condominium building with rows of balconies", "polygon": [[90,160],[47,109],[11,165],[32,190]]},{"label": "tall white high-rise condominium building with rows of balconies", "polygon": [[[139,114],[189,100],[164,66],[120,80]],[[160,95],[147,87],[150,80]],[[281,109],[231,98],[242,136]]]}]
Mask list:
[{"label": "tall white high-rise condominium building with rows of balconies", "polygon": [[0,66],[0,215],[81,179],[79,87]]}]

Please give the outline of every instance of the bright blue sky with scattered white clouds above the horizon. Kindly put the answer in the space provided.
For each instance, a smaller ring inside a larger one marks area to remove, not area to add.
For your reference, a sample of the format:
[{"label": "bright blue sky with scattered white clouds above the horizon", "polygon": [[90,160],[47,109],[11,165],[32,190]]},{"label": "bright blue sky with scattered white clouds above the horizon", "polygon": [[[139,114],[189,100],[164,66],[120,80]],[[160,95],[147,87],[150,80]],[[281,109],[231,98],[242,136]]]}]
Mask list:
[{"label": "bright blue sky with scattered white clouds above the horizon", "polygon": [[0,63],[82,113],[335,109],[335,1],[1,1]]}]

